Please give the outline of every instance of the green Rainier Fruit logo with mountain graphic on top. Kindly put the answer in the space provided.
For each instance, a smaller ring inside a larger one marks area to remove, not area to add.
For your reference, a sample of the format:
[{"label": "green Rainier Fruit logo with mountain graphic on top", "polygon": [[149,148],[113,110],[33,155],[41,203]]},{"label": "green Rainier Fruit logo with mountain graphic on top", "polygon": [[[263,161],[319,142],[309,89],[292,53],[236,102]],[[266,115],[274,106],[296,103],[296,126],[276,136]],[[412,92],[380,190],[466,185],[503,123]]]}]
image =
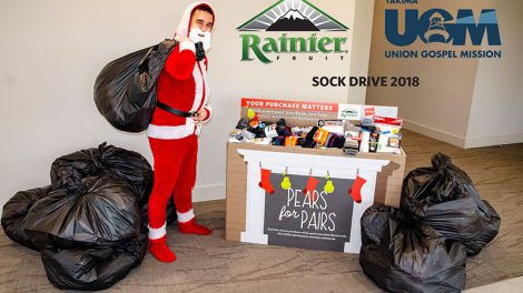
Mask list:
[{"label": "green Rainier Fruit logo with mountain graphic on top", "polygon": [[[258,59],[263,63],[280,60],[282,53],[290,53],[292,60],[308,54],[308,60],[325,59],[330,54],[344,59],[348,53],[346,37],[322,37],[318,32],[347,31],[339,21],[329,17],[306,0],[280,0],[237,28],[249,32],[282,32],[278,38],[260,37],[259,33],[243,33],[241,61]],[[308,37],[296,37],[292,32],[310,32]],[[323,53],[324,55],[317,55]]]}]

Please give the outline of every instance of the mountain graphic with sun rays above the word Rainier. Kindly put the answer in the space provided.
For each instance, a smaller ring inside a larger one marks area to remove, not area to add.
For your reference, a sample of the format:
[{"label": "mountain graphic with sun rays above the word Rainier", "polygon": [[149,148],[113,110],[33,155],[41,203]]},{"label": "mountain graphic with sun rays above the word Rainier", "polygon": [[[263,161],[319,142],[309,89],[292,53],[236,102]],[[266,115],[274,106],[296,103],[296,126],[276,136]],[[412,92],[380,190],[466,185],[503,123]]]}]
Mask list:
[{"label": "mountain graphic with sun rays above the word Rainier", "polygon": [[239,31],[347,31],[306,0],[280,0],[237,28]]}]

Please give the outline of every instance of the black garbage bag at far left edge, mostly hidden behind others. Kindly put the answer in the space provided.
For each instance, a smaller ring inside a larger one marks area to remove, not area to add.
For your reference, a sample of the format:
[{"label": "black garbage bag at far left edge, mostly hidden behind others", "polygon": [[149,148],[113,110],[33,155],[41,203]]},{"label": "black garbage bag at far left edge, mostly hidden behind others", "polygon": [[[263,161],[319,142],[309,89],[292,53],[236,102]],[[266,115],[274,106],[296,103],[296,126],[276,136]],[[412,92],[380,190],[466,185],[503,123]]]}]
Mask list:
[{"label": "black garbage bag at far left edge, mostly hidden behind others", "polygon": [[2,211],[2,228],[12,241],[31,250],[38,251],[26,235],[23,223],[31,206],[51,192],[51,186],[17,192],[4,205]]}]

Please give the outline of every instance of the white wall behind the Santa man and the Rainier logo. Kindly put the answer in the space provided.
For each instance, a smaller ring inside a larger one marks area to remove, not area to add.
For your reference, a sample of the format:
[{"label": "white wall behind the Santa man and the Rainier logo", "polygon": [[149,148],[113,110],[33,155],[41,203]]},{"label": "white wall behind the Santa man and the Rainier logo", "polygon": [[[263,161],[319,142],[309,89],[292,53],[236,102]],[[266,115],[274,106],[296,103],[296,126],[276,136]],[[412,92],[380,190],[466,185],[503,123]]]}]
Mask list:
[{"label": "white wall behind the Santa man and the Rainier logo", "polygon": [[[313,2],[352,28],[354,1]],[[19,190],[49,184],[56,158],[103,141],[152,162],[144,133],[119,132],[98,113],[92,85],[107,62],[172,37],[190,2],[0,0],[1,205]],[[310,79],[347,75],[348,60],[270,65],[239,61],[236,28],[273,2],[214,1],[209,77],[215,115],[200,138],[196,200],[225,196],[225,148],[241,97],[347,101],[346,88],[313,88]]]}]

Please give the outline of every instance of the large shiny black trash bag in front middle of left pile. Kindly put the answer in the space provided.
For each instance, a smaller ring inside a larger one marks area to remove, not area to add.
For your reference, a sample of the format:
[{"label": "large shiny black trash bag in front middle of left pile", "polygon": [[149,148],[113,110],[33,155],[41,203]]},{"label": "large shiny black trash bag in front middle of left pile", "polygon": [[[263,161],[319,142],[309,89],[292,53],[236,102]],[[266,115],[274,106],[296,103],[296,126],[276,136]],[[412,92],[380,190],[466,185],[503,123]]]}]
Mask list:
[{"label": "large shiny black trash bag in front middle of left pile", "polygon": [[81,184],[73,193],[56,190],[31,208],[24,230],[38,249],[121,246],[139,233],[138,200],[125,180],[103,175]]}]

